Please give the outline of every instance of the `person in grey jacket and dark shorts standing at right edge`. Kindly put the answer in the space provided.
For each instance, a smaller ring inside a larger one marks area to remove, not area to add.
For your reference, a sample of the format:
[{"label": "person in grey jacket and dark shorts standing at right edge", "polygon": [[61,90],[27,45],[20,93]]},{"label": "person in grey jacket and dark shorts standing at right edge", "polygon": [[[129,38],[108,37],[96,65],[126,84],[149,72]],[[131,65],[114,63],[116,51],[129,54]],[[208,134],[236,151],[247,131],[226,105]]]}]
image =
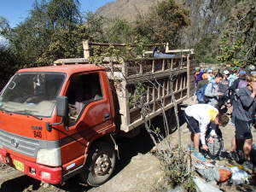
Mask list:
[{"label": "person in grey jacket and dark shorts standing at right edge", "polygon": [[[247,76],[247,86],[239,89],[236,93],[235,116],[236,149],[238,144],[243,143],[242,150],[245,155],[244,166],[252,168],[250,153],[252,150],[253,136],[251,128],[256,113],[256,74]],[[232,146],[234,149],[234,146]]]}]

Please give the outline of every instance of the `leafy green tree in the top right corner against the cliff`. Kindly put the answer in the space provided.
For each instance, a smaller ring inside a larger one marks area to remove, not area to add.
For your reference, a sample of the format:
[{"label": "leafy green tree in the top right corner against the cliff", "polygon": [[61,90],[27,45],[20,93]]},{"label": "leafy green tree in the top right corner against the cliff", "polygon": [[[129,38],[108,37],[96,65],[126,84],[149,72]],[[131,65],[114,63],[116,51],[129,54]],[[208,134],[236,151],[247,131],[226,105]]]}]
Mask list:
[{"label": "leafy green tree in the top right corner against the cliff", "polygon": [[253,0],[240,2],[220,40],[219,61],[247,67],[256,62],[256,5]]}]

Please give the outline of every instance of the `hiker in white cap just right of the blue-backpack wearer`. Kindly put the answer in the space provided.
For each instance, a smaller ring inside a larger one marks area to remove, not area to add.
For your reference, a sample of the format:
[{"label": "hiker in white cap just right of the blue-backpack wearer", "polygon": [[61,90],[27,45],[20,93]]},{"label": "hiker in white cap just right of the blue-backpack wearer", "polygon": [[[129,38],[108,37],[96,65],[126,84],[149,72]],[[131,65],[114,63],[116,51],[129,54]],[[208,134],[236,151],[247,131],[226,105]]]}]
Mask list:
[{"label": "hiker in white cap just right of the blue-backpack wearer", "polygon": [[230,72],[228,70],[224,70],[223,79],[218,83],[218,91],[223,94],[222,96],[218,96],[218,110],[220,110],[229,99],[229,74]]}]

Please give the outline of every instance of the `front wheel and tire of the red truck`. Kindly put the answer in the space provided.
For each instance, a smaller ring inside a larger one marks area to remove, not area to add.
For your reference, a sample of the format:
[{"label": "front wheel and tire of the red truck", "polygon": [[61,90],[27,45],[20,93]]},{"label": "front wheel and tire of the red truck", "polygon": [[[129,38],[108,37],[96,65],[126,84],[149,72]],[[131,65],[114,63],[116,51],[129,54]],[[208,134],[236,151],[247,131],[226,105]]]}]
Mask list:
[{"label": "front wheel and tire of the red truck", "polygon": [[108,143],[95,143],[80,177],[84,183],[97,187],[108,181],[113,174],[115,165],[116,153],[113,146]]}]

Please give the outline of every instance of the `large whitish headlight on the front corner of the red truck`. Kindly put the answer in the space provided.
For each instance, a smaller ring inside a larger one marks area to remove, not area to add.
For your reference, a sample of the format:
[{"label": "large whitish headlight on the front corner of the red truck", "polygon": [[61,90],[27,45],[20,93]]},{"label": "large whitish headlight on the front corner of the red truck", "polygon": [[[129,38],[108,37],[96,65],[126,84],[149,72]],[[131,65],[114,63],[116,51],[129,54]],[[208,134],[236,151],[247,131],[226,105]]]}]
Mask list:
[{"label": "large whitish headlight on the front corner of the red truck", "polygon": [[39,149],[37,163],[45,166],[61,166],[61,148]]}]

